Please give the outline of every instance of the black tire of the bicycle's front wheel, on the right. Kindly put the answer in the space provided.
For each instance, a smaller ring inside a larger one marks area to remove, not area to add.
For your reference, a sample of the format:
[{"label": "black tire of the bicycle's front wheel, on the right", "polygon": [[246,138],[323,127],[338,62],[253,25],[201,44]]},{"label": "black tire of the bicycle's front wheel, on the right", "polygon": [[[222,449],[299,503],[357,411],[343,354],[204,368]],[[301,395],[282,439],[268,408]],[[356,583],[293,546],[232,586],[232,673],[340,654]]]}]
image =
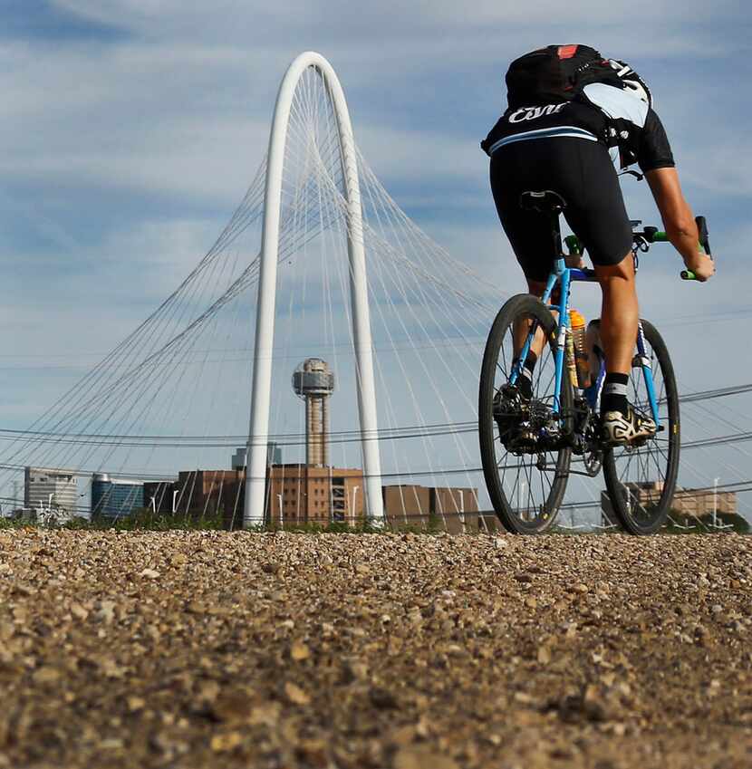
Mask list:
[{"label": "black tire of the bicycle's front wheel, on the right", "polygon": [[[656,391],[656,398],[659,401],[661,424],[665,426],[665,429],[658,433],[656,437],[647,441],[644,446],[646,448],[644,461],[642,458],[639,458],[636,465],[631,465],[631,463],[634,457],[640,456],[642,447],[638,449],[609,447],[603,454],[603,476],[613,514],[625,531],[636,535],[656,533],[666,523],[674,491],[676,490],[680,458],[679,392],[676,386],[669,350],[666,347],[666,342],[663,341],[660,333],[652,323],[642,321],[642,332],[649,347],[646,353],[650,352],[651,355],[654,382],[656,381],[656,363],[660,371],[662,385]],[[647,402],[641,399],[639,395],[639,383],[642,382],[642,372],[640,369],[639,374],[636,375],[636,370],[632,368],[628,398],[637,408],[647,410]],[[665,438],[662,436],[665,436]],[[665,449],[661,448],[664,443]],[[647,456],[651,451],[652,465],[651,458]],[[626,470],[622,469],[620,473],[618,466],[620,460],[630,457],[630,455],[632,457],[626,462]],[[630,466],[636,467],[638,470],[644,467],[645,473],[650,473],[651,475],[658,471],[660,476],[662,461],[659,457],[664,457],[666,465],[665,473],[662,474],[662,477],[640,478],[636,477],[637,473],[634,474],[635,477],[631,480],[629,477],[625,477],[629,475]],[[654,470],[653,467],[655,468]],[[654,491],[656,493],[660,491],[660,495],[651,495],[650,488],[645,489],[643,487],[643,490],[646,491],[646,501],[641,501],[640,487],[638,485],[656,483],[660,484],[660,489],[656,487]],[[625,484],[633,486],[630,487]]]}]

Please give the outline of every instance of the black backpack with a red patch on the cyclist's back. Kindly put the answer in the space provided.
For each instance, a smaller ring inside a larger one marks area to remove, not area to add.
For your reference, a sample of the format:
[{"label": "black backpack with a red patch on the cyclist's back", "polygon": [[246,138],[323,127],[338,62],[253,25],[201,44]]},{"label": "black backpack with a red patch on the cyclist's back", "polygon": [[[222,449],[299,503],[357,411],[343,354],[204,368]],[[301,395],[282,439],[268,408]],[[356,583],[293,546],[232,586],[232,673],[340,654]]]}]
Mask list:
[{"label": "black backpack with a red patch on the cyclist's back", "polygon": [[573,101],[592,82],[622,88],[612,64],[588,45],[547,45],[525,53],[506,72],[511,109]]}]

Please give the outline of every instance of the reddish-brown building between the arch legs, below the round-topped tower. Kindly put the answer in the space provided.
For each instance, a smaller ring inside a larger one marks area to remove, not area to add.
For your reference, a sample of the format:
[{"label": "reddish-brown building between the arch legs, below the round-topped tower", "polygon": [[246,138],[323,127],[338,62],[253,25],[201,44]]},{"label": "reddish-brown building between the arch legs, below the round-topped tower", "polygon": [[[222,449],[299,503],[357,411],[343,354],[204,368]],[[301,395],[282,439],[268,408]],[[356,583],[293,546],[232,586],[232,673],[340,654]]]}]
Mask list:
[{"label": "reddish-brown building between the arch legs, below the round-topped tower", "polygon": [[266,521],[276,525],[362,523],[362,470],[282,465],[269,468]]}]

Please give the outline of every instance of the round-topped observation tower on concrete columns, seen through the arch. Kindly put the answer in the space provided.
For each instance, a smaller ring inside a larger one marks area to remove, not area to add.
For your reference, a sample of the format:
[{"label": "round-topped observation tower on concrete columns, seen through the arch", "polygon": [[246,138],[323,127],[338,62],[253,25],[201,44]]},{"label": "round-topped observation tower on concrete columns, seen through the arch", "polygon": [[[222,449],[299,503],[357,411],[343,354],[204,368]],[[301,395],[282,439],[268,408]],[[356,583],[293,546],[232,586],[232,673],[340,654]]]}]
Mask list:
[{"label": "round-topped observation tower on concrete columns, seen through the arch", "polygon": [[305,401],[305,464],[329,464],[329,399],[334,392],[334,374],[320,358],[309,358],[293,374],[293,389]]}]

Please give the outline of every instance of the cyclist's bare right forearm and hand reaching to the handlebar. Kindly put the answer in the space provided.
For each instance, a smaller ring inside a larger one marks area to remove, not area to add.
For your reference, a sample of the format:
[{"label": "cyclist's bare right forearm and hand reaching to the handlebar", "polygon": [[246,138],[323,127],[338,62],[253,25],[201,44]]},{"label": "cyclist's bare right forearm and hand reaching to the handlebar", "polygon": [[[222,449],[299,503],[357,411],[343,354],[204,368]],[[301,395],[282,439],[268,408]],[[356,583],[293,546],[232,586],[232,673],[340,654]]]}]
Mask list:
[{"label": "cyclist's bare right forearm and hand reaching to the handlebar", "polygon": [[687,269],[699,281],[707,281],[715,273],[713,260],[698,248],[698,231],[692,209],[681,192],[676,168],[656,168],[645,174],[663,219],[671,245],[679,251]]}]

